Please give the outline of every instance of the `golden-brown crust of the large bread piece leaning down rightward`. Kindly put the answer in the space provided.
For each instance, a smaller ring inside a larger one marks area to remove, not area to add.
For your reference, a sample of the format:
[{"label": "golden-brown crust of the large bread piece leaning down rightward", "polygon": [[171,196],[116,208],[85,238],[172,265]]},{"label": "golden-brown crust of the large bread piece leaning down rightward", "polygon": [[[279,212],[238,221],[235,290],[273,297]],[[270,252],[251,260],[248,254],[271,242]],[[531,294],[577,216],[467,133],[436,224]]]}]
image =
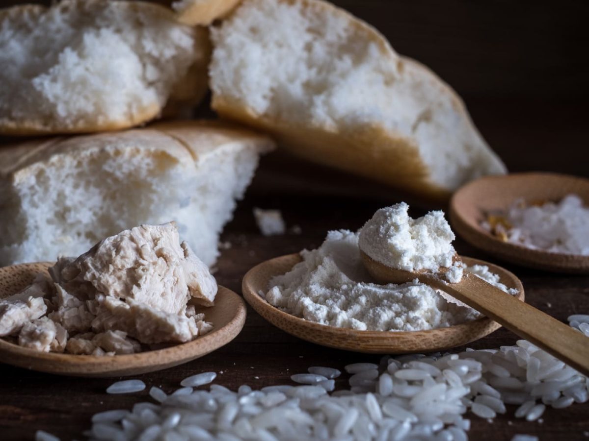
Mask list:
[{"label": "golden-brown crust of the large bread piece leaning down rightward", "polygon": [[[397,55],[386,38],[373,26],[322,0],[273,1],[302,4],[303,8],[311,9],[314,14],[332,14],[345,19],[363,38],[375,44],[380,56],[392,65],[398,64],[400,69],[416,69],[425,74],[439,93],[451,98],[452,107],[464,116],[469,128],[478,134],[456,92],[430,69],[410,58]],[[257,114],[243,103],[234,102],[229,96],[221,96],[214,91],[211,107],[223,118],[272,133],[280,146],[309,161],[355,173],[392,187],[407,189],[435,204],[445,203],[451,196],[452,192],[448,188],[432,181],[428,165],[419,155],[415,142],[380,123],[339,132],[327,126],[296,126],[293,122],[277,121]],[[499,169],[505,169],[490,149],[489,158],[495,161]]]}]

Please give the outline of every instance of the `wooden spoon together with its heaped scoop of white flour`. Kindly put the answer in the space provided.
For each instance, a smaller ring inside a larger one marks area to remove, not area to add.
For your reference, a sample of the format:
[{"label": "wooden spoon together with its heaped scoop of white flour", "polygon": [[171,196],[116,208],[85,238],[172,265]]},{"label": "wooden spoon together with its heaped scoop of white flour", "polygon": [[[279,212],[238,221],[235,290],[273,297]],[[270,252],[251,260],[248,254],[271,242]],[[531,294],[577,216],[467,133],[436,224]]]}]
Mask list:
[{"label": "wooden spoon together with its heaped scoop of white flour", "polygon": [[380,209],[360,230],[360,255],[373,278],[383,283],[417,279],[443,290],[589,375],[587,337],[465,271],[444,213],[412,219],[408,209],[405,203]]}]

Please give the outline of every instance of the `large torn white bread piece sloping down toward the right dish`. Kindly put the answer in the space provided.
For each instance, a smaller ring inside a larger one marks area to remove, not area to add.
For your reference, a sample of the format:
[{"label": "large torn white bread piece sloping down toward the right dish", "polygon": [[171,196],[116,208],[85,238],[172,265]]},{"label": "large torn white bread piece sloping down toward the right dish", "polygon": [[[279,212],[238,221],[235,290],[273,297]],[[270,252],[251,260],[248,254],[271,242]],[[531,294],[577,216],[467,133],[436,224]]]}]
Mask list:
[{"label": "large torn white bread piece sloping down toward the right dish", "polygon": [[212,106],[310,161],[426,198],[505,173],[456,93],[319,0],[244,0],[211,31]]}]

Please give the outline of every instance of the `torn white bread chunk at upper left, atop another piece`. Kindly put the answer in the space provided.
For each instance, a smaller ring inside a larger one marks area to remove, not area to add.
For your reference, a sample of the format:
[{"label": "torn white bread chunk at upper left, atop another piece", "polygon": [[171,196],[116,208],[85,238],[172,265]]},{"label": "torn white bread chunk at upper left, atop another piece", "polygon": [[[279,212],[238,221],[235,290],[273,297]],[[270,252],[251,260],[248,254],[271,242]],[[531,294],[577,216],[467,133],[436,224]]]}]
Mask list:
[{"label": "torn white bread chunk at upper left, atop another piece", "polygon": [[[199,12],[216,13],[195,9],[192,21]],[[167,104],[198,103],[209,33],[179,19],[139,1],[0,10],[0,134],[110,131],[150,121]]]}]

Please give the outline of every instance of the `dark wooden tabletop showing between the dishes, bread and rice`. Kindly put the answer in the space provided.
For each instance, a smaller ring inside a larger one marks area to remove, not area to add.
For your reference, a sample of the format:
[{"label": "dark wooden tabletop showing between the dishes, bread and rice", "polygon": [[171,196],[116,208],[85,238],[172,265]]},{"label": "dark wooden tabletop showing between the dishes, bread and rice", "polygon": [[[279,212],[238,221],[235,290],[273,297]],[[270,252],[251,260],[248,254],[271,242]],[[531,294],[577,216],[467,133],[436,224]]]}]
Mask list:
[{"label": "dark wooden tabletop showing between the dishes, bread and rice", "polygon": [[[550,131],[553,129],[550,128]],[[564,159],[560,162],[549,153],[553,150],[550,136],[544,132],[546,129],[540,125],[538,130],[537,135],[526,143],[534,146],[537,152],[531,161],[537,165],[544,164],[540,167],[543,169],[551,169],[551,166],[566,169]],[[502,135],[503,132],[498,130],[492,135],[497,137],[501,146],[498,151],[504,153],[508,164],[515,163],[515,168],[521,169],[515,162],[521,152],[514,154],[514,141],[511,140],[521,139],[524,133],[507,132]],[[586,151],[571,154],[578,154],[577,161],[584,161],[585,164],[589,159]],[[571,169],[578,166],[577,161],[571,163]],[[357,229],[376,209],[398,200],[394,193],[388,198],[375,198],[368,190],[362,196],[359,194],[362,187],[356,189],[355,196],[342,195],[341,191],[337,192],[336,184],[339,182],[343,189],[350,184],[349,178],[339,173],[328,174],[331,185],[312,186],[315,182],[325,182],[326,178],[319,176],[322,171],[315,167],[303,168],[298,161],[289,158],[267,156],[263,159],[250,191],[223,233],[222,240],[228,240],[233,246],[223,251],[216,265],[215,275],[219,283],[240,292],[241,277],[256,263],[316,247],[328,229]],[[282,180],[275,179],[277,174],[283,175]],[[299,225],[302,233],[263,237],[254,224],[254,206],[282,209],[287,224]],[[414,215],[422,213],[419,209],[413,211]],[[461,254],[495,261],[461,240],[458,240],[456,248]],[[573,313],[589,312],[589,277],[538,272],[508,264],[504,266],[521,278],[527,301],[537,308],[560,320]],[[516,339],[511,332],[500,329],[470,346],[498,348],[500,345],[513,345]],[[169,392],[178,387],[183,377],[222,370],[223,374],[216,380],[218,384],[236,389],[247,383],[259,388],[288,383],[292,373],[306,372],[307,367],[313,365],[342,369],[348,363],[378,359],[378,356],[304,342],[274,328],[248,309],[243,331],[229,345],[186,365],[138,377],[148,386],[161,386]],[[79,439],[81,432],[90,426],[93,413],[130,408],[133,403],[147,397],[147,390],[133,395],[107,395],[105,389],[112,381],[52,376],[0,365],[0,440],[31,439],[37,429],[47,430],[62,439]],[[346,376],[343,375],[339,386],[345,382]],[[589,435],[589,405],[573,405],[566,410],[548,408],[543,423],[515,419],[514,409],[515,406],[509,406],[507,415],[498,416],[493,423],[473,416],[469,433],[471,439],[508,440],[516,433],[538,435],[541,440],[584,439],[584,432]]]}]

